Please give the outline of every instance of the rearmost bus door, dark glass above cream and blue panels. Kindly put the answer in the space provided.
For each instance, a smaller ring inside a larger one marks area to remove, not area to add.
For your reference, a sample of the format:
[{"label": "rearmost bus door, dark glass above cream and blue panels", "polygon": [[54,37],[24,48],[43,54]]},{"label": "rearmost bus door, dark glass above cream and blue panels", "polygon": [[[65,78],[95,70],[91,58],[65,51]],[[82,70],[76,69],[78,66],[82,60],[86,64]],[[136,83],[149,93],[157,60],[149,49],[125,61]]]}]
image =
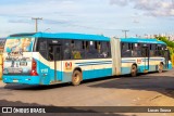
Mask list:
[{"label": "rearmost bus door, dark glass above cream and blue panels", "polygon": [[[61,46],[50,46],[50,50],[52,52],[52,61],[50,65],[53,66],[53,76],[54,76],[54,81],[53,82],[59,82],[62,80],[62,55],[61,55]],[[51,54],[50,54],[51,55]],[[51,67],[52,67],[51,66]]]}]

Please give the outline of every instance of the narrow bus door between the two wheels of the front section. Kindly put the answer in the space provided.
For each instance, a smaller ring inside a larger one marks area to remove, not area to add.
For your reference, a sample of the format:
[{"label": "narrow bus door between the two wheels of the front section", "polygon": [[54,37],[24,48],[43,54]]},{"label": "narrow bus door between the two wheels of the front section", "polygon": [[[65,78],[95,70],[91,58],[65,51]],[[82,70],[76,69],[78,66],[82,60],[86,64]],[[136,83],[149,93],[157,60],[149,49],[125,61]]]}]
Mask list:
[{"label": "narrow bus door between the two wheels of the front section", "polygon": [[142,57],[145,65],[145,73],[149,70],[149,47],[142,47]]}]

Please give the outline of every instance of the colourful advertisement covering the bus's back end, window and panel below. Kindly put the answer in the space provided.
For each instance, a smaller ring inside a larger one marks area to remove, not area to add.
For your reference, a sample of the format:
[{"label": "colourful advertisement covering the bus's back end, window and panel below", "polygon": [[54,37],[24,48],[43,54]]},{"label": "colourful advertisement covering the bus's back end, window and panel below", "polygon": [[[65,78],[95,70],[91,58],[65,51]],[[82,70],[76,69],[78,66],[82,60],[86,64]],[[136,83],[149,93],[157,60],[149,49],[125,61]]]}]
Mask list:
[{"label": "colourful advertisement covering the bus's back end, window and panel below", "polygon": [[3,74],[29,74],[32,69],[32,47],[34,39],[8,39],[4,48]]}]

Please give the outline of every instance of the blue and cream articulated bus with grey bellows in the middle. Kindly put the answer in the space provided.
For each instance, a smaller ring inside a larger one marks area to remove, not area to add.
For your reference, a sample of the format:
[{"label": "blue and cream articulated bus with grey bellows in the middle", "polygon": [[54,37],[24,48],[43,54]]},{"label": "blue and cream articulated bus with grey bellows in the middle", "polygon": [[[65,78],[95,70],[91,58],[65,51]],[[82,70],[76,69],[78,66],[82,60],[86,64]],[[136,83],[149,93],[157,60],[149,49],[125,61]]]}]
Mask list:
[{"label": "blue and cream articulated bus with grey bellows in the middle", "polygon": [[3,52],[3,82],[54,85],[172,68],[166,44],[157,39],[85,34],[16,34]]}]

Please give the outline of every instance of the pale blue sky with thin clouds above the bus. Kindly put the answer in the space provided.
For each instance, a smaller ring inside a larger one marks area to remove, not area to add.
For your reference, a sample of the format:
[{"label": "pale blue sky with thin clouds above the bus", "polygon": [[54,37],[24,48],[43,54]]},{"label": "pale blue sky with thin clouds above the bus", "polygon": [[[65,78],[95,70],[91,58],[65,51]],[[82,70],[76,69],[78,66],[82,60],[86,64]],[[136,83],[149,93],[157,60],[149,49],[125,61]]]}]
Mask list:
[{"label": "pale blue sky with thin clouds above the bus", "polygon": [[0,0],[0,37],[17,33],[174,35],[174,0]]}]

